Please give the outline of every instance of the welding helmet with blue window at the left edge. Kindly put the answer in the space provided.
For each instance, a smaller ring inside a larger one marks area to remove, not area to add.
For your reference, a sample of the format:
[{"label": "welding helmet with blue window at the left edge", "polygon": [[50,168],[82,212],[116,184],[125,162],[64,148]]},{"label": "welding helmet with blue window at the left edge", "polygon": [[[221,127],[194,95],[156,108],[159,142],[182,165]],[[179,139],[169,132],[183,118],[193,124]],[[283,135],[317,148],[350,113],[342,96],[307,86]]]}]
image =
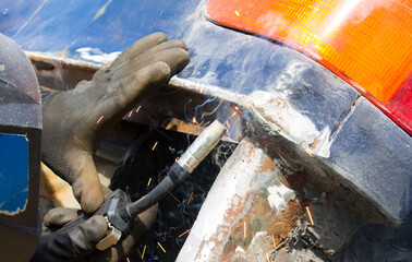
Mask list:
[{"label": "welding helmet with blue window at the left edge", "polygon": [[[40,234],[41,99],[34,69],[0,34],[0,255],[28,261]],[[22,248],[23,247],[23,248]]]}]

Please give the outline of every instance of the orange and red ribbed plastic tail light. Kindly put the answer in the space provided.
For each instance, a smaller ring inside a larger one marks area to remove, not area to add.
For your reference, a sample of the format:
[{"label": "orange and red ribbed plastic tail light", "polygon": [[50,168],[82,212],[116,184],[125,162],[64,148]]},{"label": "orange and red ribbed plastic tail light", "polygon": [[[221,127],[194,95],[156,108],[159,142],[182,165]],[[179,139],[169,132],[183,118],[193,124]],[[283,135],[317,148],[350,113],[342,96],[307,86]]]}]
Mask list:
[{"label": "orange and red ribbed plastic tail light", "polygon": [[412,133],[411,8],[412,0],[209,0],[207,15],[305,52]]}]

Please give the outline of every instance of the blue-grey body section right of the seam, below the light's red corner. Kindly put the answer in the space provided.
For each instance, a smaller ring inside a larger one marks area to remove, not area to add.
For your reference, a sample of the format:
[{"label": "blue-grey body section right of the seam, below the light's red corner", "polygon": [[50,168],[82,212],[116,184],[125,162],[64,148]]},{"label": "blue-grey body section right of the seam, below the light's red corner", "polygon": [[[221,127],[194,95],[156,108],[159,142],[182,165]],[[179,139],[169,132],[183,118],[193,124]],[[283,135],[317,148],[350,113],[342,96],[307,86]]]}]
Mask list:
[{"label": "blue-grey body section right of the seam, below the light's red corner", "polygon": [[325,159],[395,224],[412,210],[412,139],[361,97]]}]

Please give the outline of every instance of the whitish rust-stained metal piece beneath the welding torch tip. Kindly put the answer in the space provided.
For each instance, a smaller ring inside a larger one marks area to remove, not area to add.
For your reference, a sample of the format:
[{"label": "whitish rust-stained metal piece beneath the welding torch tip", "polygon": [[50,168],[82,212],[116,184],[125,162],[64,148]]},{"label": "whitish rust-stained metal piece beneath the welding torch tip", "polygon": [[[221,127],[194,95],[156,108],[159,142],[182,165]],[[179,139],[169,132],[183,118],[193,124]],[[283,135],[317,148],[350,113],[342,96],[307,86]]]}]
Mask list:
[{"label": "whitish rust-stained metal piece beneath the welding torch tip", "polygon": [[277,165],[242,140],[211,187],[177,261],[267,261],[303,214]]}]

